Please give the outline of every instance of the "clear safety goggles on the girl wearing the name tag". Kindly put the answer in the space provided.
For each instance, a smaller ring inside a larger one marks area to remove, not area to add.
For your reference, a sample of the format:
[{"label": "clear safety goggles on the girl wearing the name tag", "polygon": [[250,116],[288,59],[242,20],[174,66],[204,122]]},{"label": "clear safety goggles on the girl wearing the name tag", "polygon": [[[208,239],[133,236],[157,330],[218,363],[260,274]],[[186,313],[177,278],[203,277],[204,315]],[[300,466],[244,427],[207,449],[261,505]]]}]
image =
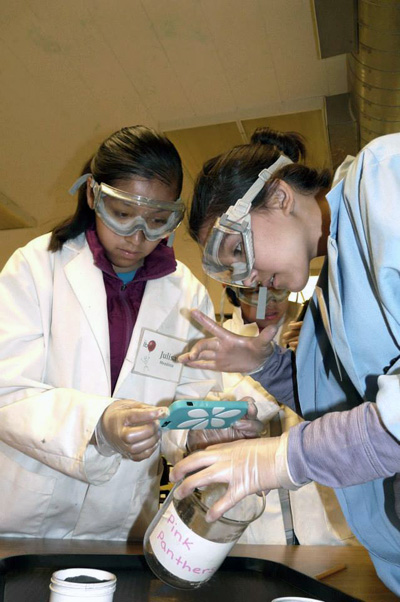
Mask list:
[{"label": "clear safety goggles on the girl wearing the name tag", "polygon": [[171,235],[183,219],[185,206],[180,199],[170,203],[130,194],[108,184],[98,184],[91,174],[79,178],[70,192],[89,177],[96,214],[119,236],[132,236],[141,230],[147,240],[159,240]]}]

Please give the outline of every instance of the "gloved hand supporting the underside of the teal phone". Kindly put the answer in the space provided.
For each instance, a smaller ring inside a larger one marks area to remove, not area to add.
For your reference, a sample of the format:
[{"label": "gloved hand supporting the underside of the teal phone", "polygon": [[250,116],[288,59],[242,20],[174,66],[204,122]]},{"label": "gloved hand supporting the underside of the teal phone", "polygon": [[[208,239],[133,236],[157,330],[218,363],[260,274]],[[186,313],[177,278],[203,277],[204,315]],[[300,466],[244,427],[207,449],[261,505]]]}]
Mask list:
[{"label": "gloved hand supporting the underside of the teal phone", "polygon": [[199,429],[189,431],[186,447],[189,452],[204,449],[208,445],[226,443],[237,439],[254,439],[260,437],[264,425],[257,420],[257,407],[251,397],[244,397],[248,402],[247,414],[226,429]]}]

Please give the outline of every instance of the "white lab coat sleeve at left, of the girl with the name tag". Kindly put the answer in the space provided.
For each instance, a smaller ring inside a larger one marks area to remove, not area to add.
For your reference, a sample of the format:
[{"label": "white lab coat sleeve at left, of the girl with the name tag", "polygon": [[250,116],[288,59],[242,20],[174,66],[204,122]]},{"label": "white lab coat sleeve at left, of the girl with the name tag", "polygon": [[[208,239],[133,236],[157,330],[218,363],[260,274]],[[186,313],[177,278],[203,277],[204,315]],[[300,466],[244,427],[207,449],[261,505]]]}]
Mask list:
[{"label": "white lab coat sleeve at left, of the girl with the name tag", "polygon": [[102,483],[121,455],[106,457],[91,443],[115,400],[48,382],[54,274],[51,254],[35,253],[17,251],[0,275],[0,440],[70,477]]}]

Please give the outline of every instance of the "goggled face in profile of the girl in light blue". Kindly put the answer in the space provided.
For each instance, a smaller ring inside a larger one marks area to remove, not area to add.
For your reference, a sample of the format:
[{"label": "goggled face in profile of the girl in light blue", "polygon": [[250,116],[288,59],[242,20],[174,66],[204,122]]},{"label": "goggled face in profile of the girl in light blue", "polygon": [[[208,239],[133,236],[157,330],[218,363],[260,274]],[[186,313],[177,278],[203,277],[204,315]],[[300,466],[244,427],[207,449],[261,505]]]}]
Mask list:
[{"label": "goggled face in profile of the girl in light blue", "polygon": [[321,236],[321,212],[314,196],[277,178],[264,204],[252,206],[265,183],[290,163],[281,155],[214,224],[204,224],[203,269],[209,276],[241,287],[294,292],[304,288]]}]

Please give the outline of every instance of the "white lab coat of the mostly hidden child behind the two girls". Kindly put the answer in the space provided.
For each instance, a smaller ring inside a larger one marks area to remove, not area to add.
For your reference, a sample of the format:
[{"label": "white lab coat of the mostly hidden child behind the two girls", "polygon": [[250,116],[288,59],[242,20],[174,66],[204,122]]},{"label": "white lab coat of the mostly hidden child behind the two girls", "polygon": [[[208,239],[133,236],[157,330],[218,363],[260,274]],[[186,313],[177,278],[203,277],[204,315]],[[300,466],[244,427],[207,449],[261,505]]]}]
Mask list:
[{"label": "white lab coat of the mostly hidden child behind the two girls", "polygon": [[[276,334],[277,342],[281,341],[285,325],[295,319],[298,311],[299,306],[295,303],[290,303],[284,325]],[[238,307],[233,308],[232,319],[224,323],[224,328],[236,334],[247,336],[256,336],[259,332],[257,324],[245,324],[243,322],[241,311]],[[224,374],[224,389],[230,386],[237,390],[237,382],[242,379],[241,375]],[[264,403],[273,403],[274,398],[259,383],[255,382],[250,376],[246,377],[246,381],[247,390],[253,387],[257,391],[253,396],[258,400],[258,407],[262,407],[262,399],[264,399]],[[243,380],[242,385],[244,385]],[[246,394],[251,395],[250,392]],[[259,412],[262,419],[267,423],[267,430],[268,421],[278,412],[282,432],[286,432],[290,427],[295,426],[301,421],[301,418],[289,408],[282,406],[282,409],[280,409],[277,404],[275,408],[275,412],[271,412],[269,415],[265,412]],[[358,545],[356,538],[346,523],[339,502],[332,489],[317,483],[309,483],[297,491],[290,491],[289,499],[293,529],[300,544]],[[268,493],[264,513],[247,527],[240,539],[240,543],[264,545],[286,544],[285,526],[278,490]]]}]

